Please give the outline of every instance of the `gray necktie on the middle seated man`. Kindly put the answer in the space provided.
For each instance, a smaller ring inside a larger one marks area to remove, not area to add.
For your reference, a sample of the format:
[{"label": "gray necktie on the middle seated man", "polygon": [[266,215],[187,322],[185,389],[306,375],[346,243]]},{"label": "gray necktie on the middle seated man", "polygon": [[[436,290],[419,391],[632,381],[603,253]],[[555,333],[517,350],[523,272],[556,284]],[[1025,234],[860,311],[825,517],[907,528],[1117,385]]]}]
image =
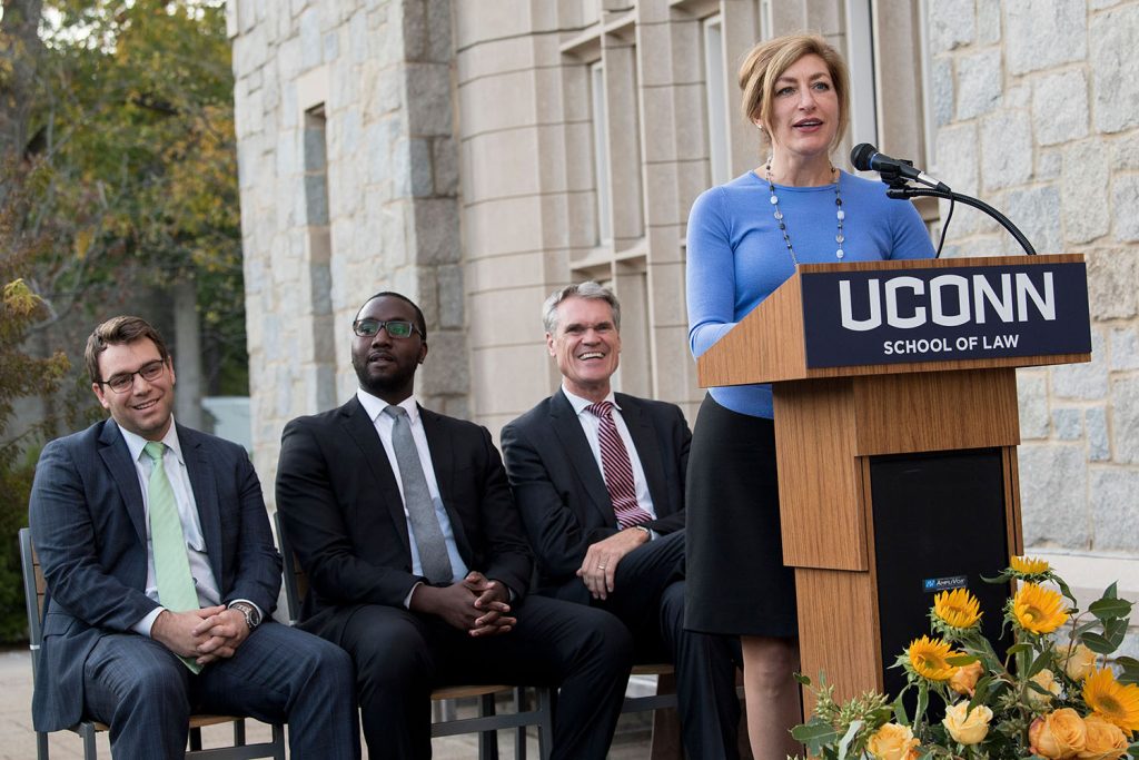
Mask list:
[{"label": "gray necktie on the middle seated man", "polygon": [[395,463],[400,466],[400,481],[403,483],[403,506],[408,509],[411,521],[411,533],[419,549],[419,564],[424,575],[433,583],[450,583],[454,580],[451,569],[451,557],[446,554],[446,541],[435,515],[435,504],[427,490],[427,479],[424,477],[423,465],[416,441],[411,438],[411,424],[403,407],[387,407],[384,414],[392,417],[392,448],[395,449]]}]

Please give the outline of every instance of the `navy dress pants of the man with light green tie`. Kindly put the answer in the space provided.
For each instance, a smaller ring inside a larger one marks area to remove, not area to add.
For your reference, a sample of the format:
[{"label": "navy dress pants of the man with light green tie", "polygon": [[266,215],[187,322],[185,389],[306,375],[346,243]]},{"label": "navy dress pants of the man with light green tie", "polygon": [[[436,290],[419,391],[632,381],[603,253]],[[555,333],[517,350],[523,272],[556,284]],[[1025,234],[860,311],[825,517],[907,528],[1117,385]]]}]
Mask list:
[{"label": "navy dress pants of the man with light green tie", "polygon": [[265,621],[232,657],[195,676],[138,634],[104,636],[84,664],[87,714],[110,727],[116,758],[181,760],[194,712],[288,722],[294,760],[360,757],[352,662],[338,647]]}]

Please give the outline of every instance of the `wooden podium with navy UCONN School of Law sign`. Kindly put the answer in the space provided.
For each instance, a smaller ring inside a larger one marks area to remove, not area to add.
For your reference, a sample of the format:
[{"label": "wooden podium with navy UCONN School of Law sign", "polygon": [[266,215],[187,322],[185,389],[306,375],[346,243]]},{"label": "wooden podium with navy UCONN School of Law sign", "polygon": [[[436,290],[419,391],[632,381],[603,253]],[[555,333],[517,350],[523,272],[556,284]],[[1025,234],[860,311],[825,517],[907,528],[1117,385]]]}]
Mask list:
[{"label": "wooden podium with navy UCONN School of Law sign", "polygon": [[[887,669],[928,632],[932,591],[983,594],[978,575],[1005,566],[989,563],[1023,550],[1015,369],[1090,351],[1083,258],[1051,255],[800,265],[699,358],[704,387],[773,384],[804,675],[842,698],[893,690]],[[984,541],[985,566],[958,566]],[[986,632],[1008,590],[990,588]]]}]

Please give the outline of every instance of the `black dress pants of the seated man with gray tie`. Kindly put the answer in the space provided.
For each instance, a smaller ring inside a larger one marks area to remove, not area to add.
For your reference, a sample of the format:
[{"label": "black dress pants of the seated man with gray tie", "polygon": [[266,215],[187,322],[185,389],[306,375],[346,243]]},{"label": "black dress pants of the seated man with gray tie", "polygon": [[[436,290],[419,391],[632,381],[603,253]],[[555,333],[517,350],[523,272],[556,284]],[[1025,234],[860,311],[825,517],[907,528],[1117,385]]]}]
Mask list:
[{"label": "black dress pants of the seated man with gray tie", "polygon": [[472,637],[433,615],[382,605],[355,608],[339,641],[352,655],[368,757],[431,758],[431,692],[445,684],[560,687],[552,757],[604,760],[632,664],[628,629],[613,615],[526,597],[517,626]]}]

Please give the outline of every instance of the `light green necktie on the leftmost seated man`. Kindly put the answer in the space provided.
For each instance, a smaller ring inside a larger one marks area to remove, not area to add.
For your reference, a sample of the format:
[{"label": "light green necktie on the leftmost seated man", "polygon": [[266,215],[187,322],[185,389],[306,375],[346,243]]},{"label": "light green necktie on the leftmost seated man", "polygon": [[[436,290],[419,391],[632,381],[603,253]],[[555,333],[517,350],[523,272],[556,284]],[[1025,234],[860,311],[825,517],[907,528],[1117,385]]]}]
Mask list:
[{"label": "light green necktie on the leftmost seated man", "polygon": [[[182,518],[174,501],[174,489],[170,487],[162,456],[166,444],[150,441],[142,449],[150,457],[150,482],[147,483],[147,501],[150,506],[150,547],[154,551],[154,574],[158,582],[158,602],[171,612],[197,610],[198,593],[190,574],[190,561],[186,554],[186,536]],[[191,657],[180,657],[186,667],[198,673],[202,665]]]}]

